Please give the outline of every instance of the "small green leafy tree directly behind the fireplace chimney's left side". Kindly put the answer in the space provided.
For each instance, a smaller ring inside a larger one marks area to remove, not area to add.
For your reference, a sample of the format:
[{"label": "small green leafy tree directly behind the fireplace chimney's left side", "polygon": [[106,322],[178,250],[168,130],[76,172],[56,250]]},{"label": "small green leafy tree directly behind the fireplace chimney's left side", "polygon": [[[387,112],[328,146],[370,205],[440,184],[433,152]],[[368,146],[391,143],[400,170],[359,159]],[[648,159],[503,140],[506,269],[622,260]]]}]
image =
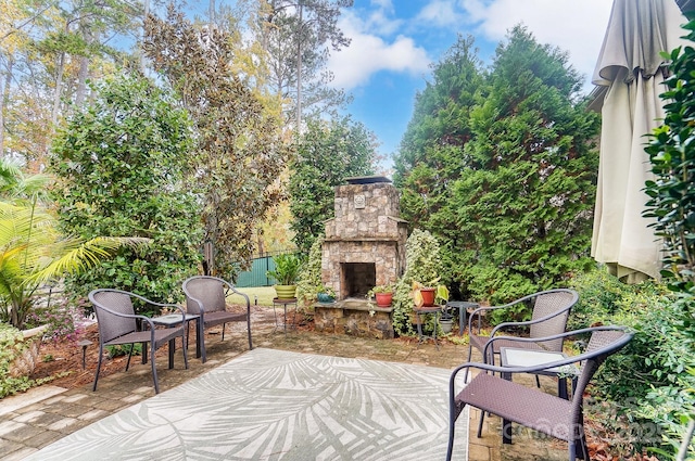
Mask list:
[{"label": "small green leafy tree directly behind the fireplace chimney's left side", "polygon": [[361,123],[350,117],[307,120],[291,163],[289,194],[294,243],[308,253],[324,233],[324,221],[333,217],[333,188],[345,178],[374,174],[376,141]]}]

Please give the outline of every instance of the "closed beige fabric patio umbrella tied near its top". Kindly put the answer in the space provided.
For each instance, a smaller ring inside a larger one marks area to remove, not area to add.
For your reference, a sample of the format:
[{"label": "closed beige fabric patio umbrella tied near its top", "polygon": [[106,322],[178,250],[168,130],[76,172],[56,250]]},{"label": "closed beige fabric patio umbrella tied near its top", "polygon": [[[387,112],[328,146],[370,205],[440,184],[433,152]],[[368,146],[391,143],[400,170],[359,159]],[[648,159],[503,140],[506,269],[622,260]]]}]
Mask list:
[{"label": "closed beige fabric patio umbrella tied near its top", "polygon": [[664,118],[661,51],[685,43],[675,0],[614,0],[592,82],[605,88],[592,256],[627,281],[658,278],[660,242],[642,217],[652,179],[644,152]]}]

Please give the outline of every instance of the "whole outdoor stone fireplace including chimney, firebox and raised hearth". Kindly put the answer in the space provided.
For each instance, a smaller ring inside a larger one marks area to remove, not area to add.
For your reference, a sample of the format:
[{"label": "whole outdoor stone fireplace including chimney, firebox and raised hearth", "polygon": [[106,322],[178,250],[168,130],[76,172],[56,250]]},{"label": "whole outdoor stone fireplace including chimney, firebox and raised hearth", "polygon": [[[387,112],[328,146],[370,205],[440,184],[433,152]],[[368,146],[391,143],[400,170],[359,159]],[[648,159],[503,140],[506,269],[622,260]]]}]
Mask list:
[{"label": "whole outdoor stone fireplace including chimney, firebox and raised hearth", "polygon": [[316,328],[393,337],[391,309],[375,309],[366,295],[375,285],[394,283],[405,269],[407,229],[399,193],[380,176],[346,181],[336,187],[336,217],[326,221],[321,254],[321,280],[338,302],[317,306]]}]

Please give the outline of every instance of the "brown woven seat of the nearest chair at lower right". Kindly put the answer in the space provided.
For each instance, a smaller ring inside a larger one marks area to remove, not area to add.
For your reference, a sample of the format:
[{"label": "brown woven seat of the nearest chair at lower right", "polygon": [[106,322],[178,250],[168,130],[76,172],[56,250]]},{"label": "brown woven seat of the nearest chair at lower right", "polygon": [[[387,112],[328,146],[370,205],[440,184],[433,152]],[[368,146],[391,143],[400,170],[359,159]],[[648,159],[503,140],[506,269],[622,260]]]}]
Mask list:
[{"label": "brown woven seat of the nearest chair at lower right", "polygon": [[583,433],[579,427],[571,427],[571,401],[488,373],[473,377],[456,396],[456,401],[566,441]]}]

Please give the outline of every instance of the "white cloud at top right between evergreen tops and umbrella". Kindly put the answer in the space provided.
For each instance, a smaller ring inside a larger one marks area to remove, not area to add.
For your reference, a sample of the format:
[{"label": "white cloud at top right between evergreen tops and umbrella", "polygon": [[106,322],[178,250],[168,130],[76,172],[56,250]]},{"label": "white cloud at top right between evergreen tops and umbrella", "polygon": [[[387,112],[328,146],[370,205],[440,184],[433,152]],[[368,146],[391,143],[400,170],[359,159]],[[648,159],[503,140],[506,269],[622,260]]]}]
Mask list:
[{"label": "white cloud at top right between evergreen tops and umbrella", "polygon": [[478,24],[476,34],[500,41],[522,23],[541,43],[570,54],[570,63],[586,80],[593,74],[612,1],[609,0],[460,0]]}]

